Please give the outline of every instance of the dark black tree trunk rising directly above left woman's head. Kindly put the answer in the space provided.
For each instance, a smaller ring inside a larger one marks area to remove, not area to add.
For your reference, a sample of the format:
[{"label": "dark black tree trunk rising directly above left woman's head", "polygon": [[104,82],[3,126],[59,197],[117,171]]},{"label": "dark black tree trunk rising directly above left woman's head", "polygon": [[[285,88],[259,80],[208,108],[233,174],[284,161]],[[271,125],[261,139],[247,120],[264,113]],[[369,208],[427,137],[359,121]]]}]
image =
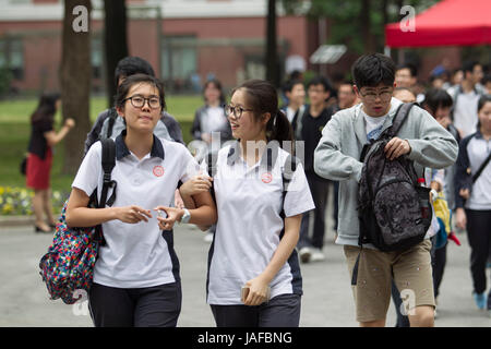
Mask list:
[{"label": "dark black tree trunk rising directly above left woman's head", "polygon": [[119,60],[128,56],[127,7],[124,0],[105,0],[104,47],[106,55],[106,92],[111,107],[116,95],[115,70]]}]

